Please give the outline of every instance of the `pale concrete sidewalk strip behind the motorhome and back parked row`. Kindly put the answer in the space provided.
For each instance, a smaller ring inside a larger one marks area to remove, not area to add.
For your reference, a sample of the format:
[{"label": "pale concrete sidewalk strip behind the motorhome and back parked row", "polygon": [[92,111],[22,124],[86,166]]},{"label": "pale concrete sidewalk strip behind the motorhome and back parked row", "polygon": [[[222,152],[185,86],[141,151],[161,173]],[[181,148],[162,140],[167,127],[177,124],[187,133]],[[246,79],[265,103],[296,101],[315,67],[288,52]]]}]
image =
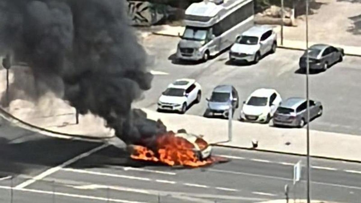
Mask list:
[{"label": "pale concrete sidewalk strip behind the motorhome and back parked row", "polygon": [[[297,49],[297,50],[305,50],[306,42],[303,39],[303,35],[300,35],[299,40],[288,40],[286,37],[283,38],[283,44],[281,44],[281,26],[278,25],[270,25],[274,27],[275,32],[277,33],[278,47],[280,48],[288,48],[288,49]],[[284,33],[289,32],[288,29],[294,29],[293,27],[284,27]],[[164,36],[174,36],[178,37],[178,33],[182,34],[184,32],[184,27],[182,26],[169,26],[162,25],[157,27],[157,31],[152,31],[152,34],[155,35],[164,35]],[[326,42],[309,42],[309,46],[313,44],[326,43]],[[344,46],[341,44],[335,43],[327,43],[334,47],[341,47],[344,49],[346,55],[350,56],[361,56],[361,47],[360,46]]]}]

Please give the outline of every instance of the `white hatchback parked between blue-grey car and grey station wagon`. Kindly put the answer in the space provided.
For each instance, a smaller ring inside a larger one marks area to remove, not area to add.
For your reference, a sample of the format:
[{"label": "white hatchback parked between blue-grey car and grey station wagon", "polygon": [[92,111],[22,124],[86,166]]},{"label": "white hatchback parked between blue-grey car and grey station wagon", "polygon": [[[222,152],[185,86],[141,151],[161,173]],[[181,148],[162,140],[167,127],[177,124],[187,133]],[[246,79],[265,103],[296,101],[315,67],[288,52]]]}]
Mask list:
[{"label": "white hatchback parked between blue-grey car and grey station wagon", "polygon": [[240,120],[268,123],[281,102],[276,90],[258,89],[243,102]]}]

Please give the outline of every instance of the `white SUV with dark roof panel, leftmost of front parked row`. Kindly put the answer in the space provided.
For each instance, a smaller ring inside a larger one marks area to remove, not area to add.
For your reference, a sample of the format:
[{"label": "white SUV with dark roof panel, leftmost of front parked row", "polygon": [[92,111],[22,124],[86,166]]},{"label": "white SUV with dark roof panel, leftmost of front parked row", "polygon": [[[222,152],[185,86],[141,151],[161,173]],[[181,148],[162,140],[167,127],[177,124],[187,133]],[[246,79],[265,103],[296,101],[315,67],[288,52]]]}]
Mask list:
[{"label": "white SUV with dark roof panel, leftmost of front parked row", "polygon": [[187,107],[201,100],[201,86],[194,79],[178,79],[168,85],[158,100],[158,111],[169,110],[185,113]]}]

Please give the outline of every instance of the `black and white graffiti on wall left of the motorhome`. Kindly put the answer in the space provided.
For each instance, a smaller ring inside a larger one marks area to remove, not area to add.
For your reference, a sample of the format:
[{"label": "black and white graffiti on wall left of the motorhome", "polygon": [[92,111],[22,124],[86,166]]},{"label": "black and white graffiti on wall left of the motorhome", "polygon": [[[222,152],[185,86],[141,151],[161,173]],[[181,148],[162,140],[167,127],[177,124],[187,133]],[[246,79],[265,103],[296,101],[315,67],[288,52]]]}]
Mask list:
[{"label": "black and white graffiti on wall left of the motorhome", "polygon": [[166,17],[166,8],[147,1],[128,1],[128,16],[131,25],[149,26]]}]

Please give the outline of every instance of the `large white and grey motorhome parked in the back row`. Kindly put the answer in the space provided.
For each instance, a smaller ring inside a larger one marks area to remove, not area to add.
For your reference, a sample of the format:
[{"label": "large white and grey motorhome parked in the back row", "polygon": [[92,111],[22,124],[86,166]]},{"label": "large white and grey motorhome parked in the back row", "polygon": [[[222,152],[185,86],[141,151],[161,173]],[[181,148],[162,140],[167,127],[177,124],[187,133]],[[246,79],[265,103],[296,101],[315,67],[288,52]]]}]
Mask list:
[{"label": "large white and grey motorhome parked in the back row", "polygon": [[253,0],[204,0],[191,4],[177,59],[208,60],[253,26]]}]

